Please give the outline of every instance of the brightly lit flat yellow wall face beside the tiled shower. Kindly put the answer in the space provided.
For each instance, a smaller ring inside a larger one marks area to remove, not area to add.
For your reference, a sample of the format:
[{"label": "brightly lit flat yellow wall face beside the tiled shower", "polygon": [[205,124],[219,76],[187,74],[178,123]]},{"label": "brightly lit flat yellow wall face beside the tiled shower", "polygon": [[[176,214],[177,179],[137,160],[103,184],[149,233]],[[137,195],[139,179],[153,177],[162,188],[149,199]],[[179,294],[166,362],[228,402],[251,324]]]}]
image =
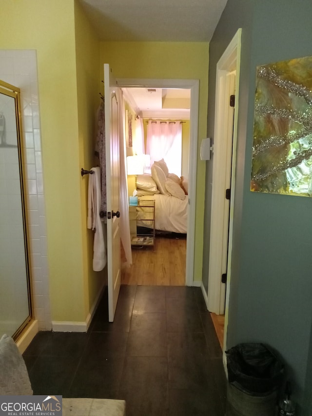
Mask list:
[{"label": "brightly lit flat yellow wall face beside the tiled shower", "polygon": [[0,49],[36,49],[53,321],[85,321],[74,0],[1,0]]}]

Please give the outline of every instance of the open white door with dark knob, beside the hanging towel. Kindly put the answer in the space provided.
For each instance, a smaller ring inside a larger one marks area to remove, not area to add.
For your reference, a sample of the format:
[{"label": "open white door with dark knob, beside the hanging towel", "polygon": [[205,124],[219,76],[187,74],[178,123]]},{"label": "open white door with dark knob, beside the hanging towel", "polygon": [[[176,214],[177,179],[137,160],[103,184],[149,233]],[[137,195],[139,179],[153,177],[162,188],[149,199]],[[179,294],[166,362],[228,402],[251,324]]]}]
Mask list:
[{"label": "open white door with dark knob, beside the hanging towel", "polygon": [[113,322],[120,289],[119,228],[119,103],[117,86],[109,64],[104,64],[106,203],[107,203],[107,284],[108,318]]}]

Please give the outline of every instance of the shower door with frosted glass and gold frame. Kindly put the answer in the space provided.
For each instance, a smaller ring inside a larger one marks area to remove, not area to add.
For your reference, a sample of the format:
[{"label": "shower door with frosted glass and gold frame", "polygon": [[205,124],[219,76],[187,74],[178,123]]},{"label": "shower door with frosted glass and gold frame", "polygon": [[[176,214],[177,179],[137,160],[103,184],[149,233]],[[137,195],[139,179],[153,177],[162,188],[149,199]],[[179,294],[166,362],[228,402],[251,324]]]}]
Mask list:
[{"label": "shower door with frosted glass and gold frame", "polygon": [[20,90],[0,81],[0,337],[31,321]]}]

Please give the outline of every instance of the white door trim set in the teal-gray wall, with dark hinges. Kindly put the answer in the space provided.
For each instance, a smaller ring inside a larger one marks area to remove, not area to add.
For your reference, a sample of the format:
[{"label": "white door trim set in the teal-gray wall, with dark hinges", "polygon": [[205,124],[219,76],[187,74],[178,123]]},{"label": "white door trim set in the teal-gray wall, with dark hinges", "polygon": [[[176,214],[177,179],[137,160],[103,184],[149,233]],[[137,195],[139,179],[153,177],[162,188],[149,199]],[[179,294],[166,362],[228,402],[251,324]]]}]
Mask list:
[{"label": "white door trim set in the teal-gray wall, with dark hinges", "polygon": [[[226,341],[226,326],[228,317],[228,301],[230,292],[231,254],[233,235],[233,201],[235,186],[235,160],[237,141],[237,114],[238,114],[238,86],[240,67],[241,29],[238,29],[234,38],[226,48],[216,67],[216,94],[215,94],[215,137],[214,137],[214,167],[213,167],[213,190],[212,190],[212,214],[210,233],[210,256],[209,256],[209,281],[208,281],[208,310],[219,315],[223,314],[225,302],[225,328],[224,337]],[[233,83],[234,74],[235,82]],[[235,112],[233,143],[232,132],[229,131],[229,123],[233,110],[229,106],[230,95],[235,91]],[[232,175],[229,169],[229,151],[232,152]],[[227,174],[226,174],[227,172]],[[231,177],[231,201],[230,201],[230,223],[229,223],[229,247],[227,268],[227,289],[225,299],[225,285],[221,283],[222,266],[224,267],[224,218],[228,210],[225,200],[225,190]],[[227,182],[228,181],[228,182]],[[223,263],[222,263],[223,261]],[[224,343],[226,346],[226,343]]]}]

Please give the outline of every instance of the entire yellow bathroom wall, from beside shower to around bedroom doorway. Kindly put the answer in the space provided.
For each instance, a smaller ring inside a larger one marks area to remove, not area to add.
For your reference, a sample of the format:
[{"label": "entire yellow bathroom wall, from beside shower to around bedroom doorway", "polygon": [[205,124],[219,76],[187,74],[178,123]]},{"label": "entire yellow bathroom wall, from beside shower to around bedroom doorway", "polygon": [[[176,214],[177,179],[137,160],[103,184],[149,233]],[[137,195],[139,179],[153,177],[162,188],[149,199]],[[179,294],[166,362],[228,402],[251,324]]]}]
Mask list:
[{"label": "entire yellow bathroom wall, from beside shower to around bedroom doorway", "polygon": [[[206,137],[208,43],[107,42],[100,43],[97,56],[98,41],[74,0],[1,0],[0,13],[0,49],[37,51],[52,320],[85,321],[101,277],[91,270],[91,238],[84,228],[86,180],[80,168],[92,164],[88,143],[102,64],[110,63],[120,78],[199,79],[200,140]],[[204,168],[198,164],[198,280]]]}]

